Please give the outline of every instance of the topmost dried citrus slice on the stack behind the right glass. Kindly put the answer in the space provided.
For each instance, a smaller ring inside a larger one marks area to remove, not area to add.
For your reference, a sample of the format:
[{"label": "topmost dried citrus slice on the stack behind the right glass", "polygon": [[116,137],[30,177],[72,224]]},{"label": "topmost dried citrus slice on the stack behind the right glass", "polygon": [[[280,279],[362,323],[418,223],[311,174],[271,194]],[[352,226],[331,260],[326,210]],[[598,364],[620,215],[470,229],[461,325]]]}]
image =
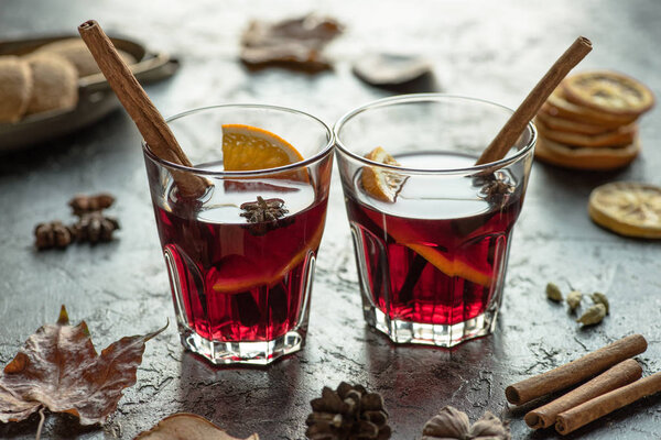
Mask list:
[{"label": "topmost dried citrus slice on the stack behind the right glass", "polygon": [[654,105],[649,88],[615,72],[585,72],[566,78],[562,85],[570,101],[607,113],[639,116]]}]

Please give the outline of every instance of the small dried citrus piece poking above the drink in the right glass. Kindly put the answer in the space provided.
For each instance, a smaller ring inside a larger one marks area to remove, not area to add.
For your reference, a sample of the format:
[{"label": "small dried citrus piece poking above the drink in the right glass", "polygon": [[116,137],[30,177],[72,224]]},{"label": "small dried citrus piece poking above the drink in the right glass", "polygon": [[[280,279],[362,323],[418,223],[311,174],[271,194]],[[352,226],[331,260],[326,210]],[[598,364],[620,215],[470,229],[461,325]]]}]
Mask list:
[{"label": "small dried citrus piece poking above the drink in the right glass", "polygon": [[[373,162],[399,166],[399,162],[380,146],[365,155]],[[360,183],[365,191],[377,200],[394,202],[407,178],[401,174],[379,169],[376,166],[364,166]]]}]

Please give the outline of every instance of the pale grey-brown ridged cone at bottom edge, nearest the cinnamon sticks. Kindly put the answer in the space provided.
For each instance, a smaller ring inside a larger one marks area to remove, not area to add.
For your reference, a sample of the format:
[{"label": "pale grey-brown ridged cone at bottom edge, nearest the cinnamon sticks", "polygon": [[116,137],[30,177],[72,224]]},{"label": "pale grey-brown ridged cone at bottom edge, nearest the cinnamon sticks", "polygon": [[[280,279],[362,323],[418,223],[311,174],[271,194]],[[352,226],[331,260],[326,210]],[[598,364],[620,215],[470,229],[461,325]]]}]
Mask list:
[{"label": "pale grey-brown ridged cone at bottom edge, nearest the cinnamon sticks", "polygon": [[432,417],[422,429],[421,440],[510,440],[511,433],[507,422],[502,422],[491,413],[486,411],[475,424],[470,425],[466,413],[446,406]]}]

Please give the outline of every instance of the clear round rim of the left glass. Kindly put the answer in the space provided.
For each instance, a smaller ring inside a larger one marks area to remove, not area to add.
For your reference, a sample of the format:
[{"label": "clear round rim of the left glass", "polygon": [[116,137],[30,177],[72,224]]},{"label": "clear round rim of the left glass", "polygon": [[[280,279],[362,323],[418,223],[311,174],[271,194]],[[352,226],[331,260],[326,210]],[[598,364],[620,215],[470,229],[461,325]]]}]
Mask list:
[{"label": "clear round rim of the left glass", "polygon": [[286,113],[292,113],[292,114],[310,118],[311,120],[321,124],[321,127],[326,131],[326,139],[327,139],[326,145],[324,145],[324,147],[322,150],[319,150],[317,153],[315,153],[314,155],[312,155],[307,158],[304,158],[303,161],[294,162],[289,165],[278,166],[275,168],[250,169],[250,170],[239,170],[239,172],[212,170],[212,169],[206,169],[206,168],[196,168],[194,166],[186,166],[186,165],[175,164],[174,162],[165,161],[165,160],[156,156],[156,154],[149,147],[149,145],[147,144],[144,139],[141,140],[142,151],[153,162],[155,162],[156,164],[159,164],[161,166],[165,166],[167,168],[172,168],[172,169],[175,169],[178,172],[193,173],[193,174],[197,174],[201,176],[208,176],[208,177],[214,177],[214,176],[253,177],[253,176],[263,176],[263,175],[279,174],[282,172],[295,170],[297,168],[307,167],[308,165],[319,161],[321,158],[327,156],[329,153],[333,152],[333,148],[335,146],[335,133],[333,132],[332,128],[328,127],[328,124],[326,124],[319,118],[317,118],[311,113],[307,113],[302,110],[292,109],[289,107],[272,106],[272,105],[266,105],[266,103],[224,103],[224,105],[217,105],[217,106],[198,107],[195,109],[186,110],[186,111],[183,111],[183,112],[180,112],[180,113],[176,113],[176,114],[165,118],[165,122],[170,124],[170,122],[176,121],[177,119],[182,119],[184,117],[199,113],[199,112],[203,112],[206,110],[231,109],[231,108],[275,110],[275,111],[282,111],[282,112],[286,112]]}]

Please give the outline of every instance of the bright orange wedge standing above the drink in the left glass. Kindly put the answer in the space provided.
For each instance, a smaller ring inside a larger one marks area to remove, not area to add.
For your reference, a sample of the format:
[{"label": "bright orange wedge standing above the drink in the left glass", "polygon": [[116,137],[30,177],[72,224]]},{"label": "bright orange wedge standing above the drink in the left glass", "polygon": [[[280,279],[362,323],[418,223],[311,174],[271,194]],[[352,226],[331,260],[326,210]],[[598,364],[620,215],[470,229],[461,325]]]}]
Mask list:
[{"label": "bright orange wedge standing above the drink in the left glass", "polygon": [[[301,161],[301,153],[277,134],[243,124],[223,125],[223,163],[228,172],[270,169]],[[307,180],[305,172],[275,177]]]}]

